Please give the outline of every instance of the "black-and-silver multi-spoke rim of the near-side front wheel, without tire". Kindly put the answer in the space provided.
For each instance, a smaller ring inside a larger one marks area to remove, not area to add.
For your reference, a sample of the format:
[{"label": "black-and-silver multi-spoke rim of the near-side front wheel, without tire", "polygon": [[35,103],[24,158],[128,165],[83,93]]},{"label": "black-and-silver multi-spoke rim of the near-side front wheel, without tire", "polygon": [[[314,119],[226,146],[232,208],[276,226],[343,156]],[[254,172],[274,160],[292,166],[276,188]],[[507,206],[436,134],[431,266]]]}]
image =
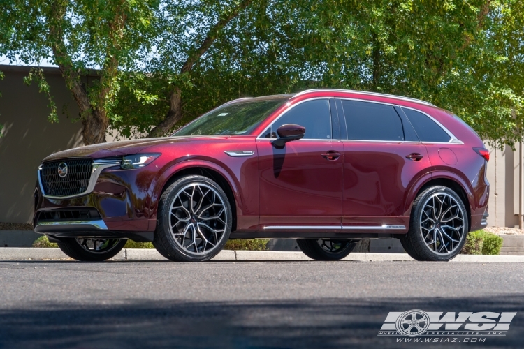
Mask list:
[{"label": "black-and-silver multi-spoke rim of the near-side front wheel, without tire", "polygon": [[227,221],[224,200],[207,184],[185,186],[171,203],[170,232],[177,244],[190,253],[216,248]]}]

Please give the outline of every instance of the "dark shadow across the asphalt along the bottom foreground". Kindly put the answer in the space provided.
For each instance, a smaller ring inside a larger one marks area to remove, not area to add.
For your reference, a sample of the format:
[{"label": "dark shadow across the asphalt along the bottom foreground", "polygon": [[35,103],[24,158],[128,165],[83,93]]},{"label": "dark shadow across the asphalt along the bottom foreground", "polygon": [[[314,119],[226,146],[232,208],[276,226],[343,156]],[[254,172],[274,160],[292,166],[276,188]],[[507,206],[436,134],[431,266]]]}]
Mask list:
[{"label": "dark shadow across the asphalt along the bottom foreground", "polygon": [[[126,299],[108,306],[28,303],[27,309],[4,305],[0,348],[419,348],[393,336],[377,336],[388,312],[411,309],[517,312],[507,336],[486,337],[476,347],[522,348],[523,295],[278,302]],[[472,343],[453,343],[451,348],[460,344],[472,348]]]}]

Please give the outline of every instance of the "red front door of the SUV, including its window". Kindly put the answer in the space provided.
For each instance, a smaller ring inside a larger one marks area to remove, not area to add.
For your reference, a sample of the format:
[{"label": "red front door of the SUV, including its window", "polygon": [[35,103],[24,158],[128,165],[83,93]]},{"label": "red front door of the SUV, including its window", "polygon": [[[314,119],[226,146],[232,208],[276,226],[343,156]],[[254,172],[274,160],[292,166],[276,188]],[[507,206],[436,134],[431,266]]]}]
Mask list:
[{"label": "red front door of the SUV, including its window", "polygon": [[[305,136],[277,149],[271,137],[284,124],[304,126]],[[305,101],[284,112],[266,132],[268,138],[257,140],[265,229],[340,228],[344,147],[333,140],[331,124],[328,99]]]}]

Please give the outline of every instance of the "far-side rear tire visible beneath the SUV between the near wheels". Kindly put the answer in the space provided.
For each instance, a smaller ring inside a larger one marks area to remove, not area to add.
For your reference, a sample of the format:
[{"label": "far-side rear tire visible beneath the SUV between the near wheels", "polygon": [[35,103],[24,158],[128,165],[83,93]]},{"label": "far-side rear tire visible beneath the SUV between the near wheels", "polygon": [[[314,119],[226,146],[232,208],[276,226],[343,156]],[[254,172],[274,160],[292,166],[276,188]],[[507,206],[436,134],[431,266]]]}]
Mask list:
[{"label": "far-side rear tire visible beneath the SUV between the near wheels", "polygon": [[341,260],[356,246],[356,242],[344,239],[297,239],[296,243],[307,257],[314,260]]}]

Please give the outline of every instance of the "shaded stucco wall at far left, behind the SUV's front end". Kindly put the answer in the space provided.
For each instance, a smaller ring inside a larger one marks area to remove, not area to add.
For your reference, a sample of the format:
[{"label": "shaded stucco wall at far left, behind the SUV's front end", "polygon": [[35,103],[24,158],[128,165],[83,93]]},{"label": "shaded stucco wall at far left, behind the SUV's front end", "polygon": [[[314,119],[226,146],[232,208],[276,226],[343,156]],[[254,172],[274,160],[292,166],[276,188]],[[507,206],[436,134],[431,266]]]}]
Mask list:
[{"label": "shaded stucco wall at far left, behind the SUV's front end", "polygon": [[[48,121],[49,107],[35,84],[24,85],[27,68],[1,66],[0,80],[0,222],[30,223],[36,170],[45,156],[81,145],[81,124],[71,122],[78,116],[71,94],[57,70],[46,69],[51,93],[57,103],[59,123]],[[61,114],[68,105],[68,119]]]}]

